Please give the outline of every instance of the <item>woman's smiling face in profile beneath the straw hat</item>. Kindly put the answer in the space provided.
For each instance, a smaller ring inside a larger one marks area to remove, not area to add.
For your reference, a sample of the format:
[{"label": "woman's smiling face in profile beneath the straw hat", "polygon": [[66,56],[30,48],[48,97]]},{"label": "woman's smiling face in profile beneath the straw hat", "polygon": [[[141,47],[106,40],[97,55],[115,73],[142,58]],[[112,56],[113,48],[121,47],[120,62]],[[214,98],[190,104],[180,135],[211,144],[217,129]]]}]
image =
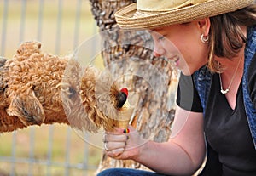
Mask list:
[{"label": "woman's smiling face in profile beneath the straw hat", "polygon": [[191,75],[207,63],[207,44],[195,21],[149,31],[154,39],[154,55],[172,60],[184,75]]}]

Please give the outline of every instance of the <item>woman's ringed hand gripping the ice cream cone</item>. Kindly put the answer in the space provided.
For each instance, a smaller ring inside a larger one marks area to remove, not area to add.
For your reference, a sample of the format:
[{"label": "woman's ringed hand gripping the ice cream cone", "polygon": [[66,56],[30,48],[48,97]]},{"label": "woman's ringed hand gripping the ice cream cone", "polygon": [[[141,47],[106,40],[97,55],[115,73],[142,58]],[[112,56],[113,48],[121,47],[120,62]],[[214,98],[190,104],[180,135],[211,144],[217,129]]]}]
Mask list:
[{"label": "woman's ringed hand gripping the ice cream cone", "polygon": [[124,133],[123,128],[116,128],[114,132],[106,132],[103,137],[107,155],[114,159],[136,160],[141,147],[147,142],[135,128],[129,126],[130,133]]}]

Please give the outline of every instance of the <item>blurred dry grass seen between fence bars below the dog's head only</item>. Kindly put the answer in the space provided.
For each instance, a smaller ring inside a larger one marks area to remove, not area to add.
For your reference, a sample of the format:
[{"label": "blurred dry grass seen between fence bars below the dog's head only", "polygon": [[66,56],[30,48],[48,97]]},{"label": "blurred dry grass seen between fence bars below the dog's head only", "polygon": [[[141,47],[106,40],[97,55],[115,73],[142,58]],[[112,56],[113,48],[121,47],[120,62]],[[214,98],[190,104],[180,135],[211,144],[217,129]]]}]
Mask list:
[{"label": "blurred dry grass seen between fence bars below the dog's head only", "polygon": [[[18,159],[28,159],[31,157],[38,162],[47,162],[50,160],[51,162],[63,164],[68,160],[70,164],[80,163],[82,165],[84,163],[92,167],[92,170],[86,171],[90,172],[92,175],[101,158],[102,150],[84,142],[84,140],[80,139],[74,132],[68,136],[70,129],[68,129],[66,125],[55,125],[53,133],[49,133],[49,128],[52,127],[44,125],[42,127],[34,127],[34,129],[26,128],[18,131],[16,133],[15,146],[12,146],[13,134],[3,133],[0,141],[0,156],[13,156],[12,150],[13,147],[15,147],[15,156]],[[53,136],[50,137],[51,134],[53,134]],[[31,145],[31,135],[34,135],[33,145]],[[49,138],[53,139],[51,159],[49,159]],[[68,149],[67,142],[70,145]],[[34,149],[34,155],[30,156],[32,149]],[[67,152],[69,152],[68,158],[66,156]],[[0,162],[0,171],[3,171],[3,173],[9,173],[11,169],[11,162]],[[18,162],[15,164],[16,175],[27,175],[30,169],[32,169],[32,175],[46,175],[48,169],[50,169],[51,175],[64,175],[65,173],[65,167],[51,166],[48,168],[45,163],[38,164],[34,162],[31,164]],[[85,171],[74,168],[70,170],[70,175],[73,175],[71,173],[84,175]]]}]

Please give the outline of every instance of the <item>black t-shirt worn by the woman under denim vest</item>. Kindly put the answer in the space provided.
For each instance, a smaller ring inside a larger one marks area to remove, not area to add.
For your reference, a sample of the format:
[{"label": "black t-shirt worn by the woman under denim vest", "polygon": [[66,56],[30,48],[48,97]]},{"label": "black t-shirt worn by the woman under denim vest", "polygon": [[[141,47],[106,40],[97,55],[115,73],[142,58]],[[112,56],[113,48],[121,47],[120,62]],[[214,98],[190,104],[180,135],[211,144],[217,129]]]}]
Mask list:
[{"label": "black t-shirt worn by the woman under denim vest", "polygon": [[[256,74],[256,69],[254,72]],[[199,95],[190,80],[190,76],[181,75],[177,105],[189,111],[202,112]],[[253,88],[256,91],[256,87]],[[192,92],[193,101],[183,100],[183,92],[187,95]],[[209,95],[205,112],[207,166],[202,175],[255,176],[256,150],[248,128],[241,85],[236,95],[235,110],[230,108],[224,94],[220,93],[218,74],[212,76]]]}]

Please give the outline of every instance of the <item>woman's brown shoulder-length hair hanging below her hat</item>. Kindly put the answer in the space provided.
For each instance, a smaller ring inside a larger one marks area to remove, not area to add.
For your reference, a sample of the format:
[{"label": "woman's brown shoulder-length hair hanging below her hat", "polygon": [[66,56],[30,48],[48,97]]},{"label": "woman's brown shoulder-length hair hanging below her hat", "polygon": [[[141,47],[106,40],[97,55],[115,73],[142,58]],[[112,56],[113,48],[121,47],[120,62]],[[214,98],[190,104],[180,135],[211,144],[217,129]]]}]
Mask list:
[{"label": "woman's brown shoulder-length hair hanging below her hat", "polygon": [[256,5],[213,16],[210,21],[208,68],[213,72],[221,72],[222,68],[214,60],[214,55],[231,59],[239,53],[247,41],[241,26],[256,25]]}]

